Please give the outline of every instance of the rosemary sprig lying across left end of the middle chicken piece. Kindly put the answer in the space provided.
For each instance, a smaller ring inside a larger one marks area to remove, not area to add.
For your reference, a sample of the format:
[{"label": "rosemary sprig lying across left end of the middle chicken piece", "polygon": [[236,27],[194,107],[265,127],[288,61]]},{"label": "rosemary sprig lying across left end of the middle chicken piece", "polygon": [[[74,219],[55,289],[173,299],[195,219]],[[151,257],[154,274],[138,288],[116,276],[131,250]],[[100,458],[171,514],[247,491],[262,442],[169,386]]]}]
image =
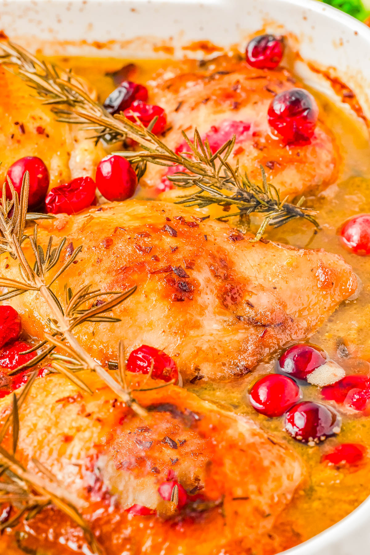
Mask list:
[{"label": "rosemary sprig lying across left end of the middle chicken piece", "polygon": [[[101,292],[100,290],[90,291],[90,286],[82,287],[79,291],[73,294],[69,287],[65,286],[65,299],[64,306],[62,302],[57,299],[52,291],[52,284],[54,281],[63,274],[67,268],[73,263],[76,256],[80,253],[82,247],[78,247],[69,257],[67,262],[63,264],[53,278],[49,278],[49,272],[59,262],[63,246],[66,239],[59,241],[59,244],[53,248],[53,238],[50,237],[46,250],[38,243],[37,239],[37,224],[34,226],[33,235],[24,234],[24,226],[26,225],[27,203],[29,193],[29,175],[28,172],[24,174],[23,186],[21,190],[21,200],[18,202],[18,196],[14,188],[11,188],[13,195],[13,204],[18,206],[17,218],[8,218],[8,206],[11,204],[6,195],[6,188],[3,186],[2,206],[0,206],[0,221],[3,224],[2,228],[2,251],[8,251],[17,258],[19,262],[19,279],[12,280],[8,278],[0,278],[0,286],[7,287],[8,292],[0,295],[0,301],[9,299],[17,295],[22,295],[27,291],[38,291],[39,295],[49,306],[52,317],[49,320],[50,334],[45,334],[45,340],[33,347],[33,350],[38,350],[42,346],[46,348],[36,355],[27,364],[20,366],[18,369],[13,370],[11,374],[17,374],[25,367],[31,367],[38,364],[46,356],[52,354],[54,370],[63,372],[69,377],[76,385],[84,388],[85,391],[90,392],[90,388],[82,382],[77,376],[74,376],[74,370],[93,370],[97,372],[99,377],[135,412],[140,416],[145,416],[146,411],[140,407],[118,381],[116,381],[97,361],[95,361],[79,344],[73,335],[73,329],[85,321],[93,322],[114,322],[117,319],[107,316],[105,312],[113,309],[115,306],[123,302],[127,297],[133,294],[136,287],[123,292]],[[5,207],[5,208],[4,208]],[[14,233],[14,229],[17,230]],[[28,240],[31,243],[31,248],[34,255],[34,263],[31,266],[24,255],[22,243]],[[90,302],[100,295],[111,295],[113,298],[99,306],[85,308],[84,304]],[[70,356],[65,357],[57,353],[53,353],[55,347],[67,352]],[[32,352],[32,350],[30,350]],[[67,359],[67,360],[66,360]]]}]

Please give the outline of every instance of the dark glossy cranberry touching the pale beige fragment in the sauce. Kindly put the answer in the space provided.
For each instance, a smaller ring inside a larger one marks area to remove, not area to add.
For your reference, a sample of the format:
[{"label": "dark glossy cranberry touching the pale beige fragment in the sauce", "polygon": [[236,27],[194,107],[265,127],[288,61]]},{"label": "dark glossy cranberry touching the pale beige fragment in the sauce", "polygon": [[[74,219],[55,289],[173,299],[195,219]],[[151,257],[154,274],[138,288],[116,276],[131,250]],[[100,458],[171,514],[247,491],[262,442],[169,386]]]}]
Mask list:
[{"label": "dark glossy cranberry touching the pale beige fragment in the sauce", "polygon": [[298,380],[307,380],[307,376],[325,362],[326,356],[323,351],[319,351],[306,343],[301,343],[289,347],[280,357],[279,365],[286,374]]}]

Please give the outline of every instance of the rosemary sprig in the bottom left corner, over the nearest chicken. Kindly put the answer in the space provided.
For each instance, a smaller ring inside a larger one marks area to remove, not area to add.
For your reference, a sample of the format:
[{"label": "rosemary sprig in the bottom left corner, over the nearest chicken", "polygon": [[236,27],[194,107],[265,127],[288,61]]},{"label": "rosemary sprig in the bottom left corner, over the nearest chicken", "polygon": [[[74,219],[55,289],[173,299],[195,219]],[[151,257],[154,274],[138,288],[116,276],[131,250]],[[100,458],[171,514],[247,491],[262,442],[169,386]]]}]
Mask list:
[{"label": "rosemary sprig in the bottom left corner, over the nearest chicken", "polygon": [[[9,503],[15,511],[11,519],[0,524],[0,533],[4,528],[17,526],[22,518],[26,521],[33,518],[43,508],[53,504],[82,528],[93,553],[104,555],[104,550],[95,539],[89,524],[80,514],[80,509],[87,503],[66,491],[57,478],[37,459],[32,460],[39,471],[38,474],[34,474],[26,470],[16,458],[19,433],[18,415],[36,377],[37,371],[33,372],[18,397],[16,393],[13,393],[12,412],[0,430],[0,504]],[[9,453],[1,445],[10,426],[12,427],[13,453]]]}]

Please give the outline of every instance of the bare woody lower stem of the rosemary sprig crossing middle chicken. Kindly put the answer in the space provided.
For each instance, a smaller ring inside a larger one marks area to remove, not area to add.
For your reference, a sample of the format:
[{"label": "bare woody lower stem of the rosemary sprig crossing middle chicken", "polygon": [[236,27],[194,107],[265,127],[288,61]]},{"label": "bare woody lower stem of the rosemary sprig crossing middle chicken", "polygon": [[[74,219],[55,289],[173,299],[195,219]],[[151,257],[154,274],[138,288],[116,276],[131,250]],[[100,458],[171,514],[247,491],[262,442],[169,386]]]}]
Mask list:
[{"label": "bare woody lower stem of the rosemary sprig crossing middle chicken", "polygon": [[72,349],[77,353],[80,360],[82,360],[90,370],[95,371],[98,374],[98,376],[101,377],[102,380],[104,380],[105,383],[116,393],[116,395],[118,395],[121,398],[121,400],[126,403],[126,405],[133,408],[133,410],[136,412],[136,414],[138,414],[138,416],[140,416],[141,418],[144,418],[147,415],[145,408],[141,407],[138,403],[133,401],[129,393],[125,391],[124,388],[121,387],[118,384],[118,382],[114,380],[114,378],[109,374],[109,372],[107,372],[107,370],[104,370],[104,368],[100,366],[100,364],[98,364],[98,362],[95,361],[79,344],[77,339],[70,331],[69,321],[67,320],[63,312],[59,309],[59,307],[55,303],[52,295],[50,295],[50,291],[48,287],[44,284],[41,284],[39,291],[40,291],[40,295],[43,297],[44,301],[47,303],[50,310],[53,312],[53,316],[55,320],[58,321],[60,331],[64,335],[65,339],[67,339]]}]

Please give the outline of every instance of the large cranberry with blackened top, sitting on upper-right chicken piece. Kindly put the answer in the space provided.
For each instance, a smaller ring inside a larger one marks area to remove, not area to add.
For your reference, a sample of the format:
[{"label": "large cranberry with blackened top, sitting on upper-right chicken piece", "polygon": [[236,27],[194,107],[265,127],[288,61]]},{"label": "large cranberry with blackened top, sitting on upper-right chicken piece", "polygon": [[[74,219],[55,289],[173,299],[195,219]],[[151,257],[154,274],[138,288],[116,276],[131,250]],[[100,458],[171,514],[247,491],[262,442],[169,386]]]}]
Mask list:
[{"label": "large cranberry with blackened top, sitting on upper-right chicken piece", "polygon": [[318,107],[312,94],[290,89],[271,100],[268,124],[281,135],[285,144],[306,144],[315,132]]}]

